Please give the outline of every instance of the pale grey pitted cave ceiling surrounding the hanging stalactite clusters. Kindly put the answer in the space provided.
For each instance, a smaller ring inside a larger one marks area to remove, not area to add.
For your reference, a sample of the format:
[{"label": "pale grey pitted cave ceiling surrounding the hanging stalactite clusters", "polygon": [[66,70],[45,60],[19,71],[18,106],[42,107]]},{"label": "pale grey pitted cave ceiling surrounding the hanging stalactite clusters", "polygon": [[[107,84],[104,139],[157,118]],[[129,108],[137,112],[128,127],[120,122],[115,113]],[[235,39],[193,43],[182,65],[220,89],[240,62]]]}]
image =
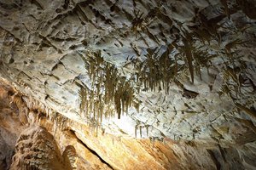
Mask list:
[{"label": "pale grey pitted cave ceiling surrounding the hanging stalactite clusters", "polygon": [[[22,92],[85,123],[79,89],[81,84],[90,88],[91,80],[84,59],[100,51],[128,78],[137,71],[132,62],[145,59],[148,50],[157,48],[160,55],[171,45],[174,59],[183,37],[190,36],[194,84],[184,69],[177,75],[182,86],[171,82],[169,94],[140,86],[135,95],[142,111],[131,107],[128,116],[103,120],[102,127],[133,137],[135,127],[143,127],[147,137],[147,127],[152,137],[234,144],[237,134],[255,136],[255,15],[247,9],[255,2],[242,2],[3,1],[0,72]],[[198,96],[188,99],[184,90]]]}]

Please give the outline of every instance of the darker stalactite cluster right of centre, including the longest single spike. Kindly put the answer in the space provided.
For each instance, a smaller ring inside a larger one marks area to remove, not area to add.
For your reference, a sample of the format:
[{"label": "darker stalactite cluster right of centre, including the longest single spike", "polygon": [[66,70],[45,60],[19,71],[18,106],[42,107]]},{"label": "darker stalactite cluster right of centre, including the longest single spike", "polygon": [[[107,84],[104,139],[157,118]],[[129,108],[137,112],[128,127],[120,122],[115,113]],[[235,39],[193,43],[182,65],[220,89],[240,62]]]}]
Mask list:
[{"label": "darker stalactite cluster right of centre, including the longest single spike", "polygon": [[201,66],[207,66],[207,62],[216,55],[208,54],[205,48],[195,48],[193,35],[187,32],[184,34],[186,36],[170,43],[164,52],[162,48],[148,48],[145,59],[131,62],[136,68],[138,89],[141,86],[144,91],[164,89],[168,94],[170,83],[177,79],[179,72],[188,69],[192,83],[194,74],[201,77]]}]

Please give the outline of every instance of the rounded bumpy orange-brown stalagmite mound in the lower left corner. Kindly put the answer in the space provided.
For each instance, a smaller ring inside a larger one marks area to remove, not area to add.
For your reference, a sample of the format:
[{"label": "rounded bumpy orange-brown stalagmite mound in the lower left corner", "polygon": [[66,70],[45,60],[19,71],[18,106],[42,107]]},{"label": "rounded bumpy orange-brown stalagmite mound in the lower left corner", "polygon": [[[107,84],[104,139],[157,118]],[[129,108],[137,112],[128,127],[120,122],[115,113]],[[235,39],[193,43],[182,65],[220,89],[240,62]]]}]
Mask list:
[{"label": "rounded bumpy orange-brown stalagmite mound in the lower left corner", "polygon": [[71,170],[68,156],[75,156],[75,150],[69,148],[64,151],[63,158],[54,137],[44,127],[26,128],[15,145],[15,156],[10,169]]}]

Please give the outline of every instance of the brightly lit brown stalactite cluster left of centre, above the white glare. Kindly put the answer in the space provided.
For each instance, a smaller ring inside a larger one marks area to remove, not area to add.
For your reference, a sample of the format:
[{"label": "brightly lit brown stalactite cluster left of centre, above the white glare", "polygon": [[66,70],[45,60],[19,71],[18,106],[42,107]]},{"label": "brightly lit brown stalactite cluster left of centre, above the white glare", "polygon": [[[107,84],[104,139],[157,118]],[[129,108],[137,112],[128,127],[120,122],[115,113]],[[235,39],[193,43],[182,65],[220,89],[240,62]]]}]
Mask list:
[{"label": "brightly lit brown stalactite cluster left of centre, above the white glare", "polygon": [[134,100],[134,90],[131,82],[119,76],[117,68],[104,61],[100,53],[88,54],[84,62],[91,83],[90,87],[80,88],[80,111],[97,131],[103,116],[120,118],[128,111]]}]

